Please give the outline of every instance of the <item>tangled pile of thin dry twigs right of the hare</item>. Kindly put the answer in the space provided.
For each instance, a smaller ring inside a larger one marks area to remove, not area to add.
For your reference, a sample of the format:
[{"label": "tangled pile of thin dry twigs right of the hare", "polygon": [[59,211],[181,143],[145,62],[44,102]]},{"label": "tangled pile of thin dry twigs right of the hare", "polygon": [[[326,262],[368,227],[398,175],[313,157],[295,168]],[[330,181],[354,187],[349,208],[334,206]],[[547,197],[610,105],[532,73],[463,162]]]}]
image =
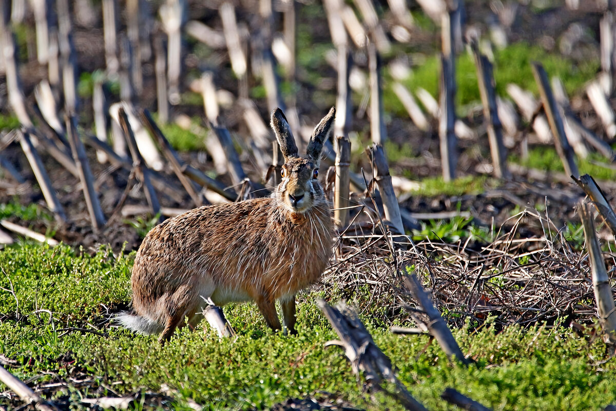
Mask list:
[{"label": "tangled pile of thin dry twigs right of the hare", "polygon": [[[535,220],[544,234],[520,235],[525,220]],[[470,246],[471,238],[454,244],[394,243],[382,234],[349,231],[341,236],[323,283],[338,287],[343,298],[354,298],[360,313],[378,321],[407,317],[402,306],[414,303],[402,283],[406,271],[418,275],[448,322],[458,327],[468,319],[482,324],[488,317],[497,325],[527,326],[553,324],[557,318],[590,322],[596,315],[586,249],[536,210],[513,216],[483,246]],[[613,269],[612,254],[606,262],[608,271]],[[367,297],[357,297],[362,295]],[[379,317],[380,312],[387,315]]]}]

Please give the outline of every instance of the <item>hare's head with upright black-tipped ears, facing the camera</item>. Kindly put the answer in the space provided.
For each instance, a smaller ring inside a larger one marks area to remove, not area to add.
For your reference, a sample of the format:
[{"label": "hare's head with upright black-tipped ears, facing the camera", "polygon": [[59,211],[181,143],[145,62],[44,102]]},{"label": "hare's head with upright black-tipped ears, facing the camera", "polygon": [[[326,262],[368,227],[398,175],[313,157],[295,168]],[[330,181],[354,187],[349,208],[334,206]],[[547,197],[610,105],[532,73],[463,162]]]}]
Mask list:
[{"label": "hare's head with upright black-tipped ears, facing the camera", "polygon": [[323,143],[330,134],[335,115],[336,109],[332,107],[312,132],[306,156],[299,157],[298,146],[282,110],[277,108],[272,113],[272,129],[285,157],[282,182],[276,188],[275,197],[292,213],[305,213],[313,206],[326,202],[323,189],[318,184],[318,165]]}]

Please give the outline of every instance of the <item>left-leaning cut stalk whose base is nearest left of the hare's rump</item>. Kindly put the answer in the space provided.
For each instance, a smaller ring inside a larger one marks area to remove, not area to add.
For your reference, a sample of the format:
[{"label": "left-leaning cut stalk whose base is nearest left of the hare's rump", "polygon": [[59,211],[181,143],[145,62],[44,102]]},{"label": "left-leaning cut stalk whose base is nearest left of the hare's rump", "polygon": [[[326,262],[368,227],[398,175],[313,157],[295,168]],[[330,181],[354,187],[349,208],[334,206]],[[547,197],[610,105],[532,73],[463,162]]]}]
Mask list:
[{"label": "left-leaning cut stalk whose base is nearest left of the hare's rump", "polygon": [[79,180],[81,181],[81,187],[83,187],[84,198],[86,199],[87,212],[90,214],[90,221],[94,232],[98,232],[99,229],[105,226],[105,215],[102,208],[100,208],[99,196],[94,189],[94,176],[90,169],[90,163],[87,161],[86,149],[83,147],[83,143],[77,135],[77,122],[75,117],[67,116],[67,136],[71,145],[71,151],[73,152],[73,160],[79,171]]}]

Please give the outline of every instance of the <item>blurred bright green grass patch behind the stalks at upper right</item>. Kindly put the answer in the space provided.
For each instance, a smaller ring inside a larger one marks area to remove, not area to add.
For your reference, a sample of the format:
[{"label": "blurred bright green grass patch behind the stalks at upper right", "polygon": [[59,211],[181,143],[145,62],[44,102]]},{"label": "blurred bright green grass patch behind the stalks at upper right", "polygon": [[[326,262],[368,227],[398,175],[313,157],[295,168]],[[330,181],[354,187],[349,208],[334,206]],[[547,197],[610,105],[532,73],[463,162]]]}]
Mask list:
[{"label": "blurred bright green grass patch behind the stalks at upper right", "polygon": [[[533,77],[530,63],[538,61],[543,64],[548,76],[557,76],[562,80],[569,94],[578,91],[592,79],[598,70],[598,60],[575,62],[557,54],[550,54],[542,47],[527,43],[514,43],[505,49],[495,51],[494,78],[496,92],[506,96],[506,86],[516,83],[538,95],[537,83]],[[432,96],[439,94],[440,60],[437,55],[429,56],[426,61],[413,71],[413,75],[405,81],[405,86],[411,91],[423,87]],[[387,82],[386,84],[391,84]],[[456,107],[464,112],[464,106],[480,100],[477,86],[477,72],[472,55],[463,52],[456,59]],[[393,94],[390,87],[384,90],[386,110],[395,113],[405,113],[402,104]]]}]

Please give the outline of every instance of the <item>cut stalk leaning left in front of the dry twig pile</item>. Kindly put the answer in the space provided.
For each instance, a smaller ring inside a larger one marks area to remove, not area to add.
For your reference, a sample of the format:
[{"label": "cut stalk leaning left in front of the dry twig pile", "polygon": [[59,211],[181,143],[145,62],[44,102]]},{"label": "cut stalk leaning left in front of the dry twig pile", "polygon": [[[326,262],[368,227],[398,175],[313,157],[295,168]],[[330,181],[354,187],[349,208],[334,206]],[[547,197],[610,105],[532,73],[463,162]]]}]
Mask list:
[{"label": "cut stalk leaning left in front of the dry twig pile", "polygon": [[460,346],[458,346],[455,338],[453,338],[451,330],[447,327],[447,323],[443,317],[441,317],[439,310],[437,310],[434,304],[432,304],[432,301],[430,301],[428,294],[417,279],[417,276],[415,274],[406,275],[404,282],[411,292],[413,299],[417,301],[419,307],[428,315],[430,320],[426,322],[426,325],[428,325],[430,333],[434,335],[434,338],[439,341],[440,348],[445,351],[447,357],[449,359],[455,357],[464,365],[471,364],[471,360],[464,357]]}]

